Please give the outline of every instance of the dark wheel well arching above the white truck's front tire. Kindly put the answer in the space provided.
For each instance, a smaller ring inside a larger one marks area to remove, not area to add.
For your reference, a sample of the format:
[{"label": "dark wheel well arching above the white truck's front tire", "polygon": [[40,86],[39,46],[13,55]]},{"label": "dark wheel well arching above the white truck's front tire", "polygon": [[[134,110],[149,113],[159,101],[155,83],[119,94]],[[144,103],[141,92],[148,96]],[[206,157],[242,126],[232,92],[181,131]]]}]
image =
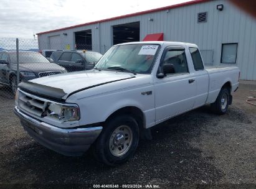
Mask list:
[{"label": "dark wheel well arching above the white truck's front tire", "polygon": [[140,108],[137,108],[135,106],[126,106],[125,108],[116,110],[114,113],[112,113],[110,116],[108,116],[106,121],[108,121],[111,118],[114,118],[115,116],[118,116],[120,114],[130,114],[131,116],[133,116],[133,118],[136,119],[136,121],[139,124],[140,129],[144,128],[144,126],[145,126],[144,114]]}]

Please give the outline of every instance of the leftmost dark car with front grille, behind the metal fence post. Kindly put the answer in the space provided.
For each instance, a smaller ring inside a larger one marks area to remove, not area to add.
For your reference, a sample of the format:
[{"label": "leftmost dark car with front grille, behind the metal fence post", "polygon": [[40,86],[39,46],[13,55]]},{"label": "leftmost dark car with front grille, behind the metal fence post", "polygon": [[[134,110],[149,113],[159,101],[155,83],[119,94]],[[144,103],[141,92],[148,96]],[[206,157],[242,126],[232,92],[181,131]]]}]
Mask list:
[{"label": "leftmost dark car with front grille, behind the metal fence post", "polygon": [[[42,76],[65,73],[65,68],[50,63],[39,52],[19,52],[19,78],[28,81]],[[0,83],[11,86],[12,92],[17,89],[17,52],[0,52]]]}]

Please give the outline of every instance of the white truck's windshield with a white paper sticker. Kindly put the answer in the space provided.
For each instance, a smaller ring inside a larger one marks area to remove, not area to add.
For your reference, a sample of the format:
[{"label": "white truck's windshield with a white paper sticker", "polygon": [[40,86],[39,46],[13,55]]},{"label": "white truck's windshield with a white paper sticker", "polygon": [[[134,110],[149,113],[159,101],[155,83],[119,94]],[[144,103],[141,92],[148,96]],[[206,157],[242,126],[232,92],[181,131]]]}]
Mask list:
[{"label": "white truck's windshield with a white paper sticker", "polygon": [[150,73],[159,51],[158,44],[130,44],[111,47],[99,60],[99,70]]}]

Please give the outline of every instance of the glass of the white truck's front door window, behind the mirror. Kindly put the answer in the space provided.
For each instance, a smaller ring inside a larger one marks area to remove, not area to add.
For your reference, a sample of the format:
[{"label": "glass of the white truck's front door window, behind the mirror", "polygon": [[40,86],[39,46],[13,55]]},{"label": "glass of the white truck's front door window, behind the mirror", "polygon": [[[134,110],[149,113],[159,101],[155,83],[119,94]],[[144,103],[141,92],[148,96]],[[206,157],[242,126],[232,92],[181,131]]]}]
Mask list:
[{"label": "glass of the white truck's front door window, behind the mirror", "polygon": [[164,64],[172,64],[175,73],[188,73],[187,60],[184,49],[169,49],[163,58]]}]

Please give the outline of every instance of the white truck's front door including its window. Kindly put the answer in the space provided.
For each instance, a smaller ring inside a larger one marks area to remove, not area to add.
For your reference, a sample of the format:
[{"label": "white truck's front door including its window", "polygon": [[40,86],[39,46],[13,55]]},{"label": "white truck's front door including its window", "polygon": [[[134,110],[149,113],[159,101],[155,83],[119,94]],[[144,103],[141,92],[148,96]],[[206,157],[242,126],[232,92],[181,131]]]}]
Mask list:
[{"label": "white truck's front door including its window", "polygon": [[166,47],[159,70],[164,64],[172,64],[174,73],[154,78],[156,124],[192,109],[196,95],[196,83],[189,73],[184,47]]}]

